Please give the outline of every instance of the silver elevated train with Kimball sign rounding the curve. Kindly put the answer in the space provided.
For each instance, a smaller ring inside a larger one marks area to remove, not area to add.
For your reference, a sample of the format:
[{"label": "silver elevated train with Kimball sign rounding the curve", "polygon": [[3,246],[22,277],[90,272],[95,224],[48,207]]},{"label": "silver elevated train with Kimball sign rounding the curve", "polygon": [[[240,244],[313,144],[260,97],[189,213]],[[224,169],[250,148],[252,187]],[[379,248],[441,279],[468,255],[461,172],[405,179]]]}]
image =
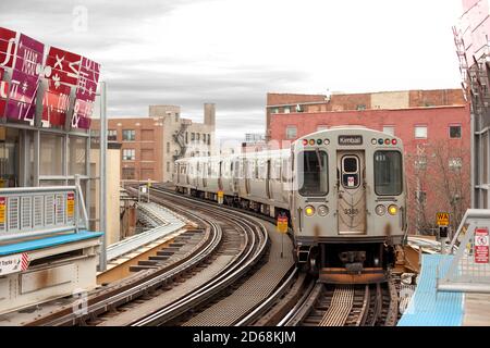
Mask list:
[{"label": "silver elevated train with Kimball sign rounding the curve", "polygon": [[363,126],[291,148],[175,161],[181,194],[287,217],[297,265],[323,283],[383,282],[407,237],[400,138]]}]

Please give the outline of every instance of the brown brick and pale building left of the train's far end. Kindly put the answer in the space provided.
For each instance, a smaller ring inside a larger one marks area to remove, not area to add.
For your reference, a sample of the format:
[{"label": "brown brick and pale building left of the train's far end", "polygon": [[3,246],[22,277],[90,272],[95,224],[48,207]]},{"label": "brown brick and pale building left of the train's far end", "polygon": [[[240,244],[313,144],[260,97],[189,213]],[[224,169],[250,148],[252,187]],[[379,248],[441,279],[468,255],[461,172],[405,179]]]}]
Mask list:
[{"label": "brown brick and pale building left of the train's far end", "polygon": [[[108,120],[108,140],[121,142],[121,181],[168,182],[183,157],[211,156],[215,104],[205,104],[205,122],[181,117],[175,105],[150,105],[147,117]],[[97,129],[99,124],[94,125]]]}]

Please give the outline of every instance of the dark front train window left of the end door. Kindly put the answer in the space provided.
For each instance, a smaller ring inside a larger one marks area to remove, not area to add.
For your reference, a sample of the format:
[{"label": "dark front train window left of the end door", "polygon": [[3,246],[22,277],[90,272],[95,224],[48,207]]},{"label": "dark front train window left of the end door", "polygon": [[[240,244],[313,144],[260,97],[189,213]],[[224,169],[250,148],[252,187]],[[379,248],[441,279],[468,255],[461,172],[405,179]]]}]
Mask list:
[{"label": "dark front train window left of the end door", "polygon": [[302,151],[298,153],[297,165],[299,195],[305,197],[326,196],[328,194],[327,152]]}]

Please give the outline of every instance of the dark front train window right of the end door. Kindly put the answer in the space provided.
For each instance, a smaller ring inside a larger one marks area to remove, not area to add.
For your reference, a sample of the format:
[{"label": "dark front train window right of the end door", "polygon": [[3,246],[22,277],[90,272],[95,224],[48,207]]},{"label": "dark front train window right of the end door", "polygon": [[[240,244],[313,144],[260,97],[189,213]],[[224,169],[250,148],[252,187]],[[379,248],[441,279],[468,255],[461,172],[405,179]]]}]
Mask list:
[{"label": "dark front train window right of the end door", "polygon": [[375,152],[375,191],[378,196],[402,194],[402,153],[399,151]]}]

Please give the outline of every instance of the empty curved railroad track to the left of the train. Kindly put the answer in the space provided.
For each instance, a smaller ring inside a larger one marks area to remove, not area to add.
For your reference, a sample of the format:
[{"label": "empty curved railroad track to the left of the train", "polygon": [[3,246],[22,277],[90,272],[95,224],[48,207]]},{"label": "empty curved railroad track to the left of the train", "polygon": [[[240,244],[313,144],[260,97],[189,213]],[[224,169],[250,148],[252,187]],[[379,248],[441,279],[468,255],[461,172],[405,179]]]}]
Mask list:
[{"label": "empty curved railroad track to the left of the train", "polygon": [[173,304],[173,311],[160,319],[159,323],[162,323],[185,312],[191,304],[197,306],[230,286],[257,263],[267,250],[268,234],[264,226],[246,216],[217,212],[209,207],[197,208],[196,202],[183,203],[180,200],[180,204],[176,204],[176,198],[154,198],[154,201],[160,203],[162,200],[166,204],[172,204],[173,210],[197,222],[199,227],[193,232],[201,233],[204,237],[192,252],[166,266],[138,272],[127,279],[90,293],[83,311],[74,311],[72,306],[66,306],[26,325],[98,325],[118,316],[119,312],[128,312],[135,303],[164,295],[170,288],[175,288],[183,281],[201,272],[216,258],[228,257],[230,262],[217,276],[221,282],[209,281],[198,291],[200,297],[193,296],[193,301],[186,302],[187,307],[182,304],[177,308]]}]

